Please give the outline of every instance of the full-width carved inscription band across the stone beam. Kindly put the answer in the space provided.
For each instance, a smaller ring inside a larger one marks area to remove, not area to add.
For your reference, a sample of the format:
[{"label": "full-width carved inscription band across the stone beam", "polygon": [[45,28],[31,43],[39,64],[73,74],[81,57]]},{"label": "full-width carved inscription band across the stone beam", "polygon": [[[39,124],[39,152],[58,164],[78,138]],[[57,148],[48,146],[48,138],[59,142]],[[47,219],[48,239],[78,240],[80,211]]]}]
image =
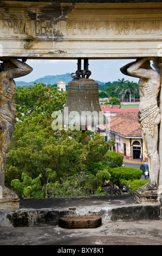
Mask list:
[{"label": "full-width carved inscription band across the stone beam", "polygon": [[2,36],[85,36],[107,38],[118,36],[161,36],[162,21],[59,21],[52,20],[0,20]]}]

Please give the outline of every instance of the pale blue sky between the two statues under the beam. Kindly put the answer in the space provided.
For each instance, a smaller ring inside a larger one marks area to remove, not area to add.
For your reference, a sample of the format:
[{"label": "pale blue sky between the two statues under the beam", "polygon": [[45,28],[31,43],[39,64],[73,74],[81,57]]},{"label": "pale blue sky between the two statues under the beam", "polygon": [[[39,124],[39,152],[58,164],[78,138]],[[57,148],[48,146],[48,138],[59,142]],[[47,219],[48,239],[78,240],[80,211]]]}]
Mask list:
[{"label": "pale blue sky between the two statues under the beam", "polygon": [[[89,70],[92,72],[89,78],[100,82],[113,82],[125,78],[125,80],[138,83],[139,78],[125,76],[120,71],[122,66],[134,60],[135,59],[89,59]],[[77,59],[28,59],[26,63],[33,68],[33,71],[27,76],[15,78],[15,81],[33,82],[47,75],[71,74],[77,70]]]}]

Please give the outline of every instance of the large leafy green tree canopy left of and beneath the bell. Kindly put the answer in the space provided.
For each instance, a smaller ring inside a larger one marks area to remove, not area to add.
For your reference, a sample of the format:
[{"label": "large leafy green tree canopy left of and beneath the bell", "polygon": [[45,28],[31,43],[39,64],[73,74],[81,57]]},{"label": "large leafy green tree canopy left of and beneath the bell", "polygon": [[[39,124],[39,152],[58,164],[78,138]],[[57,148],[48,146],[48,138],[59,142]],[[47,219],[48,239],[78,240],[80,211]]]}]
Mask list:
[{"label": "large leafy green tree canopy left of and beneath the bell", "polygon": [[99,134],[86,131],[83,148],[81,131],[51,128],[51,114],[63,110],[66,96],[67,93],[42,83],[16,89],[17,123],[5,175],[8,186],[12,179],[22,180],[22,173],[31,179],[41,174],[42,184],[48,184],[49,180],[60,182],[81,171],[96,174],[103,169],[103,156],[111,141],[105,142]]}]

